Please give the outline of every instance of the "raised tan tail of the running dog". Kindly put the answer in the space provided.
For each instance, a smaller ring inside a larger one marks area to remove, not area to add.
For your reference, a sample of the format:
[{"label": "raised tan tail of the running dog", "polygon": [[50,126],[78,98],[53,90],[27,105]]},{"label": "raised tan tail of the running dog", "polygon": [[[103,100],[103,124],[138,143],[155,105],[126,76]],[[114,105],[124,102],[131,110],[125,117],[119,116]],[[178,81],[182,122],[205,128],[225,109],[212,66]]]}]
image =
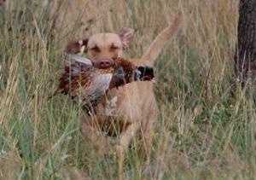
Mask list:
[{"label": "raised tan tail of the running dog", "polygon": [[166,27],[160,34],[154,39],[153,43],[149,46],[146,52],[143,54],[142,62],[147,66],[153,66],[154,61],[160,54],[160,51],[164,48],[166,42],[172,38],[182,21],[182,15],[176,15],[175,19],[173,20],[172,24]]}]

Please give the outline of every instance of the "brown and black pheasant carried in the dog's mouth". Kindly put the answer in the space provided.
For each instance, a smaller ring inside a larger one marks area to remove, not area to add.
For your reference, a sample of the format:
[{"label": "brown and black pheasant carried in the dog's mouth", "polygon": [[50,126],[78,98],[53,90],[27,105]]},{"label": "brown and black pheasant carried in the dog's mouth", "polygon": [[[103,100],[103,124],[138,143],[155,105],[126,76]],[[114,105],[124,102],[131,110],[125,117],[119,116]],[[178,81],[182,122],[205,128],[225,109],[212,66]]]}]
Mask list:
[{"label": "brown and black pheasant carried in the dog's mouth", "polygon": [[131,61],[116,58],[104,67],[80,55],[67,55],[65,71],[56,93],[76,99],[85,107],[96,107],[108,90],[137,80],[154,78],[152,67],[136,67]]}]

